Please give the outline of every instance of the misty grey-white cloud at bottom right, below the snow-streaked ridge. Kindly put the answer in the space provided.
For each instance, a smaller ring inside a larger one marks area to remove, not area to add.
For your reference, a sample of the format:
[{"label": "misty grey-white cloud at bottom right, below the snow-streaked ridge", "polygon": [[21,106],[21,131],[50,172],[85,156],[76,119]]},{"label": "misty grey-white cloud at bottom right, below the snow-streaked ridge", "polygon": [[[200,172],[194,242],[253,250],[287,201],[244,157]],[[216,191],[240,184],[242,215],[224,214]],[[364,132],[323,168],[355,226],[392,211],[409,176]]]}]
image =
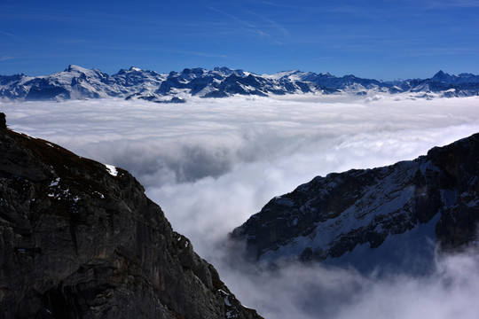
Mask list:
[{"label": "misty grey-white cloud at bottom right, below the snow-streaked ridge", "polygon": [[219,271],[237,297],[265,318],[468,319],[479,310],[478,264],[479,255],[469,253],[438,258],[427,276],[300,264],[266,271],[221,263]]}]

